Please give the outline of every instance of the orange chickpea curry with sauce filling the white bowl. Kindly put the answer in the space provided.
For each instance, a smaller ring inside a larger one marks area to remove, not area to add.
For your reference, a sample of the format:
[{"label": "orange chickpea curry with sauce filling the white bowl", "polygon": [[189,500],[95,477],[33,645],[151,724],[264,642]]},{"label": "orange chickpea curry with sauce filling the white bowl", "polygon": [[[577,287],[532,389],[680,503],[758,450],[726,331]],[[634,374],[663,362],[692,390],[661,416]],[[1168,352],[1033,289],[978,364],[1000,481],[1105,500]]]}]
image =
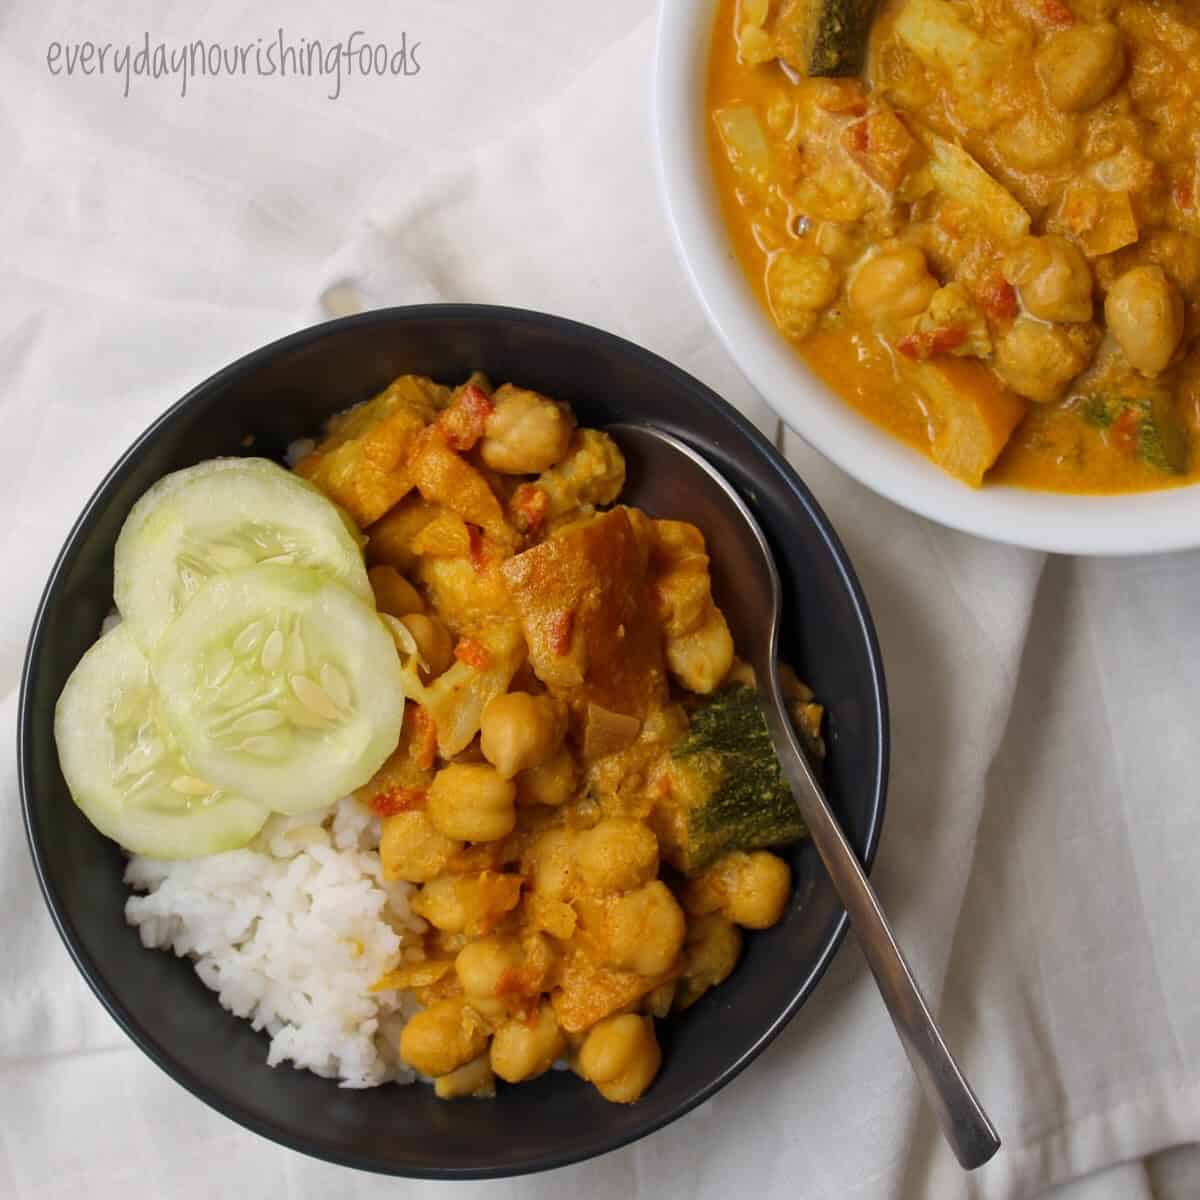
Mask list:
[{"label": "orange chickpea curry with sauce filling the white bowl", "polygon": [[962,481],[1200,472],[1200,11],[721,0],[737,257],[844,401]]}]

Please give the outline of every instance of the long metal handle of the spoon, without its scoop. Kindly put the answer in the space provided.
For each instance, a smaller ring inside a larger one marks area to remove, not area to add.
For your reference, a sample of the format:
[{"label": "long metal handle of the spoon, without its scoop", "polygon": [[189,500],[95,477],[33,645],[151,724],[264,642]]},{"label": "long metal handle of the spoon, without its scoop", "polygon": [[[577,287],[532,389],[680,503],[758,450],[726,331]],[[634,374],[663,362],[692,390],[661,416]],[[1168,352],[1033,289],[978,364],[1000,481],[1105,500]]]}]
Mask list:
[{"label": "long metal handle of the spoon, without its scoop", "polygon": [[958,1160],[968,1171],[974,1170],[1000,1150],[1000,1138],[947,1048],[875,890],[804,757],[786,716],[774,664],[768,673],[773,702],[764,703],[763,710],[784,776],[796,796],[812,844],[846,907],[925,1099]]}]

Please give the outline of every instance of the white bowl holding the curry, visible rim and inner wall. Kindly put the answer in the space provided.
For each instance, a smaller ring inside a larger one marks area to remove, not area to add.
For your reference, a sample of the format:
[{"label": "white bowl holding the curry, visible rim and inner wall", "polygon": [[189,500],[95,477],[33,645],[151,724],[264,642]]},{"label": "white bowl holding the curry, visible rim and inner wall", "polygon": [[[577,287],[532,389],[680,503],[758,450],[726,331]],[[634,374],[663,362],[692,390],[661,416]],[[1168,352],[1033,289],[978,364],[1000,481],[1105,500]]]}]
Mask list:
[{"label": "white bowl holding the curry, visible rim and inner wall", "polygon": [[1128,496],[974,490],[859,416],[775,331],[742,275],[718,208],[704,130],[712,0],[659,0],[654,109],[659,175],[684,268],[746,378],[827,458],[881,496],[966,533],[1072,554],[1200,546],[1200,486]]}]

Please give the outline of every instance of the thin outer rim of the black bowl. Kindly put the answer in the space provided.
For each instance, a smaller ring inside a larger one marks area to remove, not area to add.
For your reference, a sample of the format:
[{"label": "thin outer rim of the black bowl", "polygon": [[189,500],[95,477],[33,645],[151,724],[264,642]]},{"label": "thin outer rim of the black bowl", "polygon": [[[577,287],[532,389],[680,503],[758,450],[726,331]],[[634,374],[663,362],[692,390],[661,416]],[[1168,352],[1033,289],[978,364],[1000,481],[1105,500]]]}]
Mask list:
[{"label": "thin outer rim of the black bowl", "polygon": [[832,935],[826,940],[826,943],[816,961],[809,970],[808,976],[797,985],[792,998],[785,1008],[778,1014],[770,1025],[762,1030],[754,1044],[743,1055],[740,1055],[740,1057],[730,1063],[725,1070],[707,1082],[703,1087],[698,1088],[683,1104],[676,1106],[674,1109],[644,1120],[640,1124],[636,1124],[630,1132],[620,1135],[611,1142],[605,1142],[604,1139],[599,1139],[594,1148],[589,1147],[583,1152],[556,1152],[551,1150],[540,1156],[532,1157],[515,1169],[508,1165],[494,1168],[456,1168],[452,1164],[445,1166],[392,1168],[390,1165],[380,1164],[376,1159],[365,1159],[353,1153],[340,1153],[331,1150],[328,1144],[304,1135],[294,1135],[289,1130],[276,1126],[274,1122],[262,1118],[257,1114],[240,1105],[235,1091],[228,1094],[220,1094],[198,1079],[193,1078],[186,1068],[175,1062],[167,1046],[161,1045],[148,1032],[143,1031],[136,1019],[122,1004],[118,990],[114,989],[107,979],[101,964],[89,955],[80,943],[70,914],[66,912],[58,892],[53,887],[48,871],[43,866],[43,846],[34,821],[34,808],[36,804],[38,787],[36,781],[32,779],[31,773],[31,738],[36,718],[32,713],[30,691],[32,688],[34,666],[49,632],[47,608],[53,593],[55,593],[59,587],[60,576],[66,569],[68,559],[72,558],[76,552],[77,540],[83,533],[84,527],[89,524],[92,514],[106,503],[108,492],[119,482],[127,464],[145,450],[146,445],[156,438],[160,430],[176,420],[180,414],[187,410],[197,401],[203,400],[210,392],[222,388],[229,380],[257,370],[277,355],[312,346],[330,334],[349,328],[371,325],[386,326],[397,322],[428,322],[431,319],[469,322],[502,320],[506,323],[516,322],[521,324],[532,324],[576,338],[582,337],[595,344],[607,346],[611,350],[614,350],[626,358],[641,360],[644,367],[654,372],[673,376],[680,383],[686,384],[697,402],[702,402],[709,408],[715,408],[725,419],[733,424],[737,431],[745,439],[748,439],[755,449],[763,454],[767,463],[780,476],[781,481],[792,492],[799,505],[805,509],[808,516],[815,524],[821,540],[836,565],[838,574],[850,594],[858,629],[865,640],[870,674],[874,685],[874,694],[871,696],[872,716],[878,730],[875,748],[876,770],[874,779],[870,781],[870,808],[868,812],[866,839],[863,854],[864,866],[868,871],[870,871],[878,850],[883,817],[887,808],[888,766],[890,754],[890,727],[888,721],[888,697],[883,673],[883,660],[865,594],[863,593],[850,558],[846,554],[845,547],[812,493],[799,478],[794,468],[792,468],[784,456],[745,416],[742,415],[742,413],[733,408],[733,406],[727,401],[722,400],[706,384],[683,371],[683,368],[674,366],[660,355],[654,354],[653,352],[647,350],[626,338],[618,337],[614,334],[596,329],[595,326],[570,320],[569,318],[557,317],[551,313],[498,305],[421,304],[394,306],[376,308],[364,313],[356,313],[354,316],[306,326],[296,330],[295,332],[276,338],[258,349],[251,350],[227,366],[220,368],[206,379],[191,388],[180,400],[170,404],[142,433],[139,433],[128,449],[120,455],[113,467],[106,472],[103,479],[88,499],[79,516],[72,523],[71,530],[64,540],[61,550],[55,557],[54,565],[52,566],[46,586],[42,589],[42,595],[38,600],[34,622],[30,628],[29,641],[22,668],[20,691],[17,709],[17,774],[26,842],[34,862],[34,870],[42,892],[42,898],[46,901],[46,906],[49,910],[50,918],[59,936],[66,946],[66,949],[79,973],[84,977],[92,994],[101,1002],[108,1014],[130,1038],[134,1046],[145,1054],[151,1062],[169,1075],[176,1084],[185,1087],[199,1100],[222,1116],[236,1122],[242,1128],[248,1129],[269,1141],[276,1142],[277,1145],[286,1146],[289,1150],[294,1150],[340,1166],[349,1166],[380,1175],[402,1176],[408,1178],[505,1178],[538,1171],[553,1170],[556,1168],[584,1162],[589,1158],[595,1158],[600,1154],[619,1150],[635,1141],[640,1141],[642,1138],[646,1138],[652,1133],[655,1133],[658,1129],[677,1121],[692,1109],[708,1100],[726,1084],[739,1075],[755,1058],[758,1057],[758,1055],[762,1054],[763,1050],[766,1050],[766,1048],[779,1036],[779,1033],[811,995],[812,990],[828,970],[833,956],[836,954],[842,940],[846,936],[848,917],[845,910],[839,906],[840,912],[836,917]]}]

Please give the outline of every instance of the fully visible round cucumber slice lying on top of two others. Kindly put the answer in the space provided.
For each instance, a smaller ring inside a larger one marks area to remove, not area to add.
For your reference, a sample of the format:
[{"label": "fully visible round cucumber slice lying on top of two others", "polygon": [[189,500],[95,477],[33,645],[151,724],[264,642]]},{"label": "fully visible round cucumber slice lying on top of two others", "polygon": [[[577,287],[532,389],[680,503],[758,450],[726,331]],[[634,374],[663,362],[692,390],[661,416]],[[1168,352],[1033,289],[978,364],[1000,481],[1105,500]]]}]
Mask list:
[{"label": "fully visible round cucumber slice lying on top of two others", "polygon": [[217,575],[152,656],[167,719],[205,778],[306,812],[346,796],[400,740],[403,677],[379,614],[328,576]]}]

